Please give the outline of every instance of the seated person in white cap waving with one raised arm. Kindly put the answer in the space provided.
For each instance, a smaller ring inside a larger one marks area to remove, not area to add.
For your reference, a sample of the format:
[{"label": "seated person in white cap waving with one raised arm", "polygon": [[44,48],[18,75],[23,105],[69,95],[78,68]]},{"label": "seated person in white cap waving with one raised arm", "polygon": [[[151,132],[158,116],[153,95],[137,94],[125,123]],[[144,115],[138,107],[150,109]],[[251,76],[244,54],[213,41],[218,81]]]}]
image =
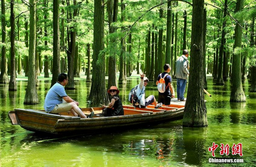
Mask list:
[{"label": "seated person in white cap waving with one raised arm", "polygon": [[162,105],[157,104],[155,96],[150,95],[145,99],[145,87],[148,85],[148,79],[145,77],[144,73],[140,74],[140,83],[137,85],[137,93],[138,101],[135,103],[135,106],[139,106],[139,108],[145,108],[146,106],[153,104],[155,108],[159,108]]}]

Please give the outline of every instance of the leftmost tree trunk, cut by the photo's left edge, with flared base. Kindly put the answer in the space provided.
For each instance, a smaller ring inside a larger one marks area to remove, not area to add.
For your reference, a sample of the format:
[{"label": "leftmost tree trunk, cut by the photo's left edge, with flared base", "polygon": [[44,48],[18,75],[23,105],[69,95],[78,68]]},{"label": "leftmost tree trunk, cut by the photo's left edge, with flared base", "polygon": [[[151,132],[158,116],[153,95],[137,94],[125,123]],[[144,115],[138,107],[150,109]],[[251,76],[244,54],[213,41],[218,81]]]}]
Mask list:
[{"label": "leftmost tree trunk, cut by the photo's left edge, with flared base", "polygon": [[[6,42],[6,29],[5,29],[5,0],[1,0],[1,30],[2,30],[2,43]],[[8,84],[9,78],[6,71],[6,47],[2,45],[1,51],[1,74],[0,74],[0,83],[1,84]]]}]

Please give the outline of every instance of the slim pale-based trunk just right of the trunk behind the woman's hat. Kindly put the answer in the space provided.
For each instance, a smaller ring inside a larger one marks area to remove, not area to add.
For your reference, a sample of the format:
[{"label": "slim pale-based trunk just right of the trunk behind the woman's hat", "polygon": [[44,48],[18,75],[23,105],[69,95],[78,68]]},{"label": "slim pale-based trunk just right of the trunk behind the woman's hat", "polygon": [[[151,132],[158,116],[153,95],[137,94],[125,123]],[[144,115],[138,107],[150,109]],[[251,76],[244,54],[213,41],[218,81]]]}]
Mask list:
[{"label": "slim pale-based trunk just right of the trunk behind the woman's hat", "polygon": [[[123,14],[123,10],[124,10],[124,4],[123,4],[123,0],[121,0],[121,22],[124,21],[124,14]],[[124,30],[124,28],[122,28],[122,30]],[[119,73],[119,79],[118,79],[118,84],[126,84],[126,66],[125,66],[125,39],[121,39],[121,51],[120,51],[120,73]]]}]

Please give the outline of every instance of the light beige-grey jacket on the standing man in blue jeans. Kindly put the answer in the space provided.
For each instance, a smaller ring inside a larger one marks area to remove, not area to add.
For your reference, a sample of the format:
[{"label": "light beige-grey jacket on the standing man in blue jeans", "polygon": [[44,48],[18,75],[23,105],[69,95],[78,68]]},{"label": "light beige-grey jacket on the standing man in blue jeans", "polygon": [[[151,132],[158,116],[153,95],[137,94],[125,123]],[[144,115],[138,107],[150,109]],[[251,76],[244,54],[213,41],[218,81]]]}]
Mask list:
[{"label": "light beige-grey jacket on the standing man in blue jeans", "polygon": [[176,61],[176,78],[188,79],[189,61],[185,55],[181,55]]}]

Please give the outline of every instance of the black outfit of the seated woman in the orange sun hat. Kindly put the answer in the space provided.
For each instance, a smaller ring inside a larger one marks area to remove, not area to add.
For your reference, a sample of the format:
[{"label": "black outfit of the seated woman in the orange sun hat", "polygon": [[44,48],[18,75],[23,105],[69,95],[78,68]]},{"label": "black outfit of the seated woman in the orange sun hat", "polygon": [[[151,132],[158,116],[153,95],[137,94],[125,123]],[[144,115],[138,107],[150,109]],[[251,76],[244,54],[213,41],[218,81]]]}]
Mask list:
[{"label": "black outfit of the seated woman in the orange sun hat", "polygon": [[105,117],[123,115],[123,104],[118,95],[111,96],[111,99],[115,99],[114,106],[111,109],[107,108]]}]

